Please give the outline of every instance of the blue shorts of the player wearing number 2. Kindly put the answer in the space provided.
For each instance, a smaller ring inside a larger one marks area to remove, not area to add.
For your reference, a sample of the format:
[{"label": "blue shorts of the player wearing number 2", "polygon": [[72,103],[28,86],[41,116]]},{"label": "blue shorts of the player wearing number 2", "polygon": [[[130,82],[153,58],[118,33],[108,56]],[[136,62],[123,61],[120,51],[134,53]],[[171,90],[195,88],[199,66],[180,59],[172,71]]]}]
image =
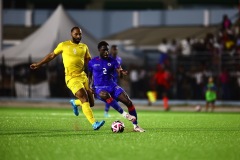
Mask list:
[{"label": "blue shorts of the player wearing number 2", "polygon": [[[101,91],[106,91],[108,93],[110,93],[111,97],[115,100],[117,100],[118,96],[124,92],[124,90],[118,86],[118,85],[111,85],[111,86],[95,86],[94,87],[95,90],[95,97],[99,100],[104,101],[100,96],[100,92]],[[105,101],[104,101],[105,102]]]}]

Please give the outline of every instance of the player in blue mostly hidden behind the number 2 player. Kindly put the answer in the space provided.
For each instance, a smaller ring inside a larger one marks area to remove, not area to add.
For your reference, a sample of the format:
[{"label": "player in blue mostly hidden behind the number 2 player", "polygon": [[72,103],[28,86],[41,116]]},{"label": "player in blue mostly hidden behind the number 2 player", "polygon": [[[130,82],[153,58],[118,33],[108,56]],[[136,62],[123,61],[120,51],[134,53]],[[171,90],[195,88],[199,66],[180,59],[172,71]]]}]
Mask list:
[{"label": "player in blue mostly hidden behind the number 2 player", "polygon": [[[122,64],[122,58],[118,56],[118,47],[117,45],[112,45],[110,49],[109,57],[112,57],[113,59],[116,59],[117,62],[121,65]],[[115,71],[113,74],[113,80],[114,82],[118,83],[118,72]],[[110,109],[110,105],[108,103],[105,103],[105,109],[104,109],[104,116],[110,117],[108,112]]]}]

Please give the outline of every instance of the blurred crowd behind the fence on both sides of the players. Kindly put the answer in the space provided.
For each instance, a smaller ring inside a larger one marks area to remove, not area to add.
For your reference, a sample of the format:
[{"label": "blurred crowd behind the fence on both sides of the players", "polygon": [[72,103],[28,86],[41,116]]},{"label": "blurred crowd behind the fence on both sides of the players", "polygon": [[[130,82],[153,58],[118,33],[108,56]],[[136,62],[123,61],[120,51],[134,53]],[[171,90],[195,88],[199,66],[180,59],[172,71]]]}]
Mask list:
[{"label": "blurred crowd behind the fence on both sides of the players", "polygon": [[[129,78],[120,83],[131,98],[146,99],[148,91],[164,88],[170,99],[203,100],[207,79],[213,77],[219,100],[240,100],[240,18],[232,23],[223,15],[219,30],[203,39],[164,38],[157,51],[142,52],[143,66],[123,62]],[[17,61],[22,60],[1,57],[0,96],[73,96],[65,85],[60,58],[38,70],[29,68],[37,61],[32,57],[24,64],[13,63]]]}]

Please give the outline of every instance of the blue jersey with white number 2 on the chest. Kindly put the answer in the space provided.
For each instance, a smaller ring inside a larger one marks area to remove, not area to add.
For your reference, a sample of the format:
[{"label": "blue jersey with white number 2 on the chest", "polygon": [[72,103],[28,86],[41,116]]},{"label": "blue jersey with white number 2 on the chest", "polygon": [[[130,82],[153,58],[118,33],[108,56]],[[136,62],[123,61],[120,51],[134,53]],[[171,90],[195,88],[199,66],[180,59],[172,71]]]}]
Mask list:
[{"label": "blue jersey with white number 2 on the chest", "polygon": [[98,56],[91,59],[88,63],[88,71],[93,74],[94,87],[116,85],[114,74],[119,67],[120,64],[112,57],[101,59]]}]

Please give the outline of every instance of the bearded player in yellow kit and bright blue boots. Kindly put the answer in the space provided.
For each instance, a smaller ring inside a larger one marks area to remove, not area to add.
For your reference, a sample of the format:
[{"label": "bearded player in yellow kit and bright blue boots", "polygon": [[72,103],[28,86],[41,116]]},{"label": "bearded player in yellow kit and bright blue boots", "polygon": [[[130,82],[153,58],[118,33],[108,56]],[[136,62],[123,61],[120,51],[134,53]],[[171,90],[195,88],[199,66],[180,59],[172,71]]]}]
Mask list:
[{"label": "bearded player in yellow kit and bright blue boots", "polygon": [[[65,68],[65,82],[67,87],[78,98],[75,100],[79,106],[82,106],[83,114],[92,124],[94,130],[98,130],[104,125],[105,121],[96,121],[92,109],[94,100],[89,91],[88,78],[84,72],[84,65],[91,59],[88,47],[80,43],[82,39],[82,30],[79,27],[71,29],[72,40],[61,42],[53,52],[46,55],[41,61],[30,65],[31,69],[37,69],[43,64],[50,62],[56,56],[62,54],[63,65]],[[74,111],[78,112],[77,105],[74,105]],[[78,113],[77,113],[78,114]]]}]

